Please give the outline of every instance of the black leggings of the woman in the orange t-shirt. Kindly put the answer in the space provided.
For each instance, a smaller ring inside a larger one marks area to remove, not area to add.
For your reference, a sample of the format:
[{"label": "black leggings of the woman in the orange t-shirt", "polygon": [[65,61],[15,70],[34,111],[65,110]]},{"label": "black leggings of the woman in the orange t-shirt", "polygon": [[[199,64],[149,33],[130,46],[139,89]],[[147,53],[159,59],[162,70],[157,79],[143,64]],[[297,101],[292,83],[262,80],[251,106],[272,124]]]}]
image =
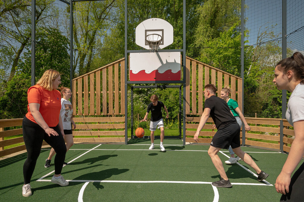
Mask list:
[{"label": "black leggings of the woman in the orange t-shirt", "polygon": [[57,125],[56,127],[50,128],[53,128],[58,133],[58,136],[51,135],[49,137],[40,125],[32,122],[26,118],[26,116],[23,118],[22,131],[27,150],[27,159],[23,165],[24,184],[30,183],[36,166],[36,161],[40,155],[43,140],[54,148],[56,152],[54,159],[55,174],[58,175],[61,173],[67,147],[65,146],[64,138],[60,132],[59,126]]}]

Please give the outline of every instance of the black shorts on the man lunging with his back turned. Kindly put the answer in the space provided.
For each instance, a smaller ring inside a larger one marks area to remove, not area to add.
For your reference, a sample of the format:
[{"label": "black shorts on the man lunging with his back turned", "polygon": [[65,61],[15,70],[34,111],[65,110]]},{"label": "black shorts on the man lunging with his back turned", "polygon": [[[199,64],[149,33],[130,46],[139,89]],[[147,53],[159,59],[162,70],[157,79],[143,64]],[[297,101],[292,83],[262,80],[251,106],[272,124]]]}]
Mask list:
[{"label": "black shorts on the man lunging with his back turned", "polygon": [[232,149],[240,146],[240,125],[235,122],[226,127],[219,128],[211,141],[211,146],[228,149],[231,145]]}]

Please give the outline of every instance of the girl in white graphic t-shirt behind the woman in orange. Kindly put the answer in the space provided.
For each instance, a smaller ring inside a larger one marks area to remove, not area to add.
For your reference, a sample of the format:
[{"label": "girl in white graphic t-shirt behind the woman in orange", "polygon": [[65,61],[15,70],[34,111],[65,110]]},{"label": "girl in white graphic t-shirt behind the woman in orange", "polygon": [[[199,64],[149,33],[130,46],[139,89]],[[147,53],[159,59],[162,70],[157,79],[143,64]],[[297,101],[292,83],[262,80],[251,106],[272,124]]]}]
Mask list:
[{"label": "girl in white graphic t-shirt behind the woman in orange", "polygon": [[[73,121],[72,115],[73,115],[73,107],[69,99],[72,96],[71,89],[67,87],[60,87],[60,93],[61,93],[61,110],[60,110],[60,116],[62,120],[63,125],[63,131],[64,131],[64,140],[66,142],[67,151],[73,146],[73,135],[72,135],[72,127],[71,123],[74,126],[74,129],[76,128],[75,122]],[[51,159],[55,155],[55,150],[52,148],[50,151],[50,155],[47,158],[44,167],[48,168],[51,166]],[[64,162],[64,165],[67,165],[66,162]]]}]

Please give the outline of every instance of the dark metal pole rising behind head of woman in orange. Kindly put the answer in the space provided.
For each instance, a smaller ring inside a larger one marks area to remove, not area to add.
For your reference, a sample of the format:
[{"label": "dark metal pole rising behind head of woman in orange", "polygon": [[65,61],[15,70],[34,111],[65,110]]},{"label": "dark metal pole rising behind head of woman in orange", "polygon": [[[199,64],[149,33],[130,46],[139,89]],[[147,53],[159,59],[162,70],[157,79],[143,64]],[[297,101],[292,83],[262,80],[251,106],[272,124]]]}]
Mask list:
[{"label": "dark metal pole rising behind head of woman in orange", "polygon": [[32,0],[31,19],[31,85],[35,85],[35,65],[36,65],[36,0]]}]

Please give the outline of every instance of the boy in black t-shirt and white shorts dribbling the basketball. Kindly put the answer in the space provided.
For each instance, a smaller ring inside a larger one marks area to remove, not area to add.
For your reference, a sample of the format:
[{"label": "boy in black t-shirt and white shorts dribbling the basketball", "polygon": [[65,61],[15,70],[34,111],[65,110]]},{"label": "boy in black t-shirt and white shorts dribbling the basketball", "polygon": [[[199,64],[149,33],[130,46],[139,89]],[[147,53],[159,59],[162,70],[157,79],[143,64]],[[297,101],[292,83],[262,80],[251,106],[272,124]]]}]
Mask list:
[{"label": "boy in black t-shirt and white shorts dribbling the basketball", "polygon": [[164,105],[164,103],[162,103],[161,101],[158,101],[157,95],[152,95],[150,98],[150,101],[151,101],[151,103],[148,105],[145,118],[143,118],[143,120],[141,120],[140,122],[147,121],[148,114],[151,111],[150,138],[151,138],[152,144],[149,149],[154,149],[154,131],[156,131],[156,128],[160,128],[161,129],[161,144],[159,147],[161,148],[161,151],[164,152],[165,151],[165,148],[163,146],[164,121],[163,121],[163,115],[161,114],[161,108],[163,107],[164,110],[167,112],[166,118],[169,118],[169,113],[168,113],[168,110],[167,110],[166,106]]}]

